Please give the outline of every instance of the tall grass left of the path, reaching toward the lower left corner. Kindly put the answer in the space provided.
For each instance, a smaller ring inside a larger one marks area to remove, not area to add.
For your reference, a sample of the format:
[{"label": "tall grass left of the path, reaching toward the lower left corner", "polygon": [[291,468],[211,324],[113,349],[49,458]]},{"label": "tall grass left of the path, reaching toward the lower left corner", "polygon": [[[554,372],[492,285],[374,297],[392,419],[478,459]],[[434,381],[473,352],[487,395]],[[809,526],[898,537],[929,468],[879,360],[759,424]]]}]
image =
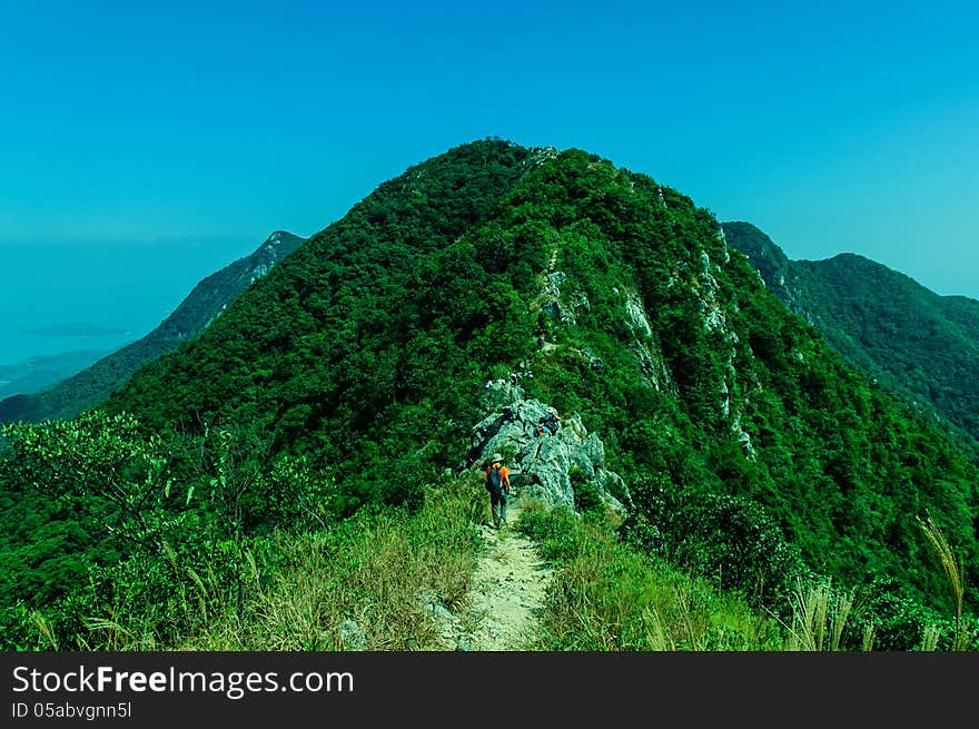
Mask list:
[{"label": "tall grass left of the path, reaching toward the lower left corner", "polygon": [[[82,650],[428,649],[436,636],[426,603],[455,608],[467,594],[484,496],[477,484],[453,482],[426,487],[414,513],[364,512],[316,533],[274,533],[239,555],[234,581],[165,550],[154,569],[169,572],[167,590],[155,604],[127,601],[120,582],[71,641]],[[33,620],[39,644],[57,648],[48,622]]]}]

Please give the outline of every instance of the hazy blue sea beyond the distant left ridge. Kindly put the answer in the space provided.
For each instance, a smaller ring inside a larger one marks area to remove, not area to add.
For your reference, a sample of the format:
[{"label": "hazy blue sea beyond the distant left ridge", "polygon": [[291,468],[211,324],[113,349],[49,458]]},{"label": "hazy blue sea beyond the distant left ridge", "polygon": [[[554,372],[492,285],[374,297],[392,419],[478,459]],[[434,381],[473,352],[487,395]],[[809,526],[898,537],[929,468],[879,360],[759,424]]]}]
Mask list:
[{"label": "hazy blue sea beyond the distant left ridge", "polygon": [[0,365],[135,342],[264,240],[0,243]]}]

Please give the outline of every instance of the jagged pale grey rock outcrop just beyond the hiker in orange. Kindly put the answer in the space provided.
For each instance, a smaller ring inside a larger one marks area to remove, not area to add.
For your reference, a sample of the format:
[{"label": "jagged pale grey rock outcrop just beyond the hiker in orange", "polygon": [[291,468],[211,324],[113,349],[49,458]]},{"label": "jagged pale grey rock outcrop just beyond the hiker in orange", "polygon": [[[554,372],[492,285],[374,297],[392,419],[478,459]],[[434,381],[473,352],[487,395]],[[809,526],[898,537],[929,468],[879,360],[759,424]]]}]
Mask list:
[{"label": "jagged pale grey rock outcrop just beyond the hiker in orange", "polygon": [[613,511],[624,515],[631,504],[622,479],[605,469],[605,449],[589,433],[577,413],[563,418],[554,435],[535,435],[547,405],[527,400],[523,387],[492,383],[484,395],[487,416],[473,427],[469,462],[483,466],[500,453],[521,498],[554,509],[575,509],[575,487],[586,487]]}]

